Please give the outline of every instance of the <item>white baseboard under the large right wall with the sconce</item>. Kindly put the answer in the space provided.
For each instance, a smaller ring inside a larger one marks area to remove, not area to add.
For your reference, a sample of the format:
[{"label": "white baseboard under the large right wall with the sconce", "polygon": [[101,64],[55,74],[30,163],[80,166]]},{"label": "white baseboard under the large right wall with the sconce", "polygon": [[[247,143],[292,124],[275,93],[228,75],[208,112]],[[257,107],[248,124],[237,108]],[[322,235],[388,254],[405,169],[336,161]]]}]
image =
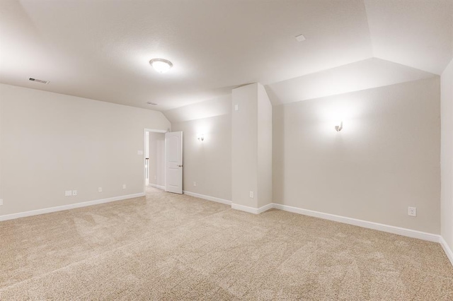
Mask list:
[{"label": "white baseboard under the large right wall with the sconce", "polygon": [[411,230],[406,228],[399,228],[391,225],[384,225],[380,223],[368,222],[367,220],[357,220],[355,218],[346,218],[345,216],[336,216],[329,213],[322,213],[318,211],[311,211],[302,208],[292,207],[281,205],[280,203],[274,203],[273,208],[280,209],[283,211],[289,211],[293,213],[303,214],[304,216],[313,216],[315,218],[323,218],[325,220],[333,220],[340,223],[345,223],[349,225],[357,225],[363,228],[369,228],[373,230],[379,230],[384,232],[389,232],[393,234],[403,235],[407,237],[418,238],[420,240],[428,240],[428,242],[440,242],[440,235],[421,232],[417,230]]}]

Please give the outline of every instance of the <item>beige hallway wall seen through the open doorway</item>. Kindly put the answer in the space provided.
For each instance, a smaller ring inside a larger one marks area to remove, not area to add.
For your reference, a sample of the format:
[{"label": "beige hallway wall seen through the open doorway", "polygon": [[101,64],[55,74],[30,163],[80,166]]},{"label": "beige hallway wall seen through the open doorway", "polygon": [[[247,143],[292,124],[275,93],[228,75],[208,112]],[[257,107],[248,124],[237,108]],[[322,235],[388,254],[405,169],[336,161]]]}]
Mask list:
[{"label": "beige hallway wall seen through the open doorway", "polygon": [[165,134],[149,132],[149,184],[165,186]]}]

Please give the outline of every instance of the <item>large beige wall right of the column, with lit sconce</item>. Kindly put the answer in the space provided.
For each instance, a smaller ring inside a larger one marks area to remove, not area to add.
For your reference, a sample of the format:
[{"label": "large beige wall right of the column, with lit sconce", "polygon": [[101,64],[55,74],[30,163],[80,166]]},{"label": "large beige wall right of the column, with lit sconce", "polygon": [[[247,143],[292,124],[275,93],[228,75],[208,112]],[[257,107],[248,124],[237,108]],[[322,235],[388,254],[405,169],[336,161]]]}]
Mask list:
[{"label": "large beige wall right of the column, with lit sconce", "polygon": [[438,77],[280,105],[273,125],[275,203],[440,233]]}]

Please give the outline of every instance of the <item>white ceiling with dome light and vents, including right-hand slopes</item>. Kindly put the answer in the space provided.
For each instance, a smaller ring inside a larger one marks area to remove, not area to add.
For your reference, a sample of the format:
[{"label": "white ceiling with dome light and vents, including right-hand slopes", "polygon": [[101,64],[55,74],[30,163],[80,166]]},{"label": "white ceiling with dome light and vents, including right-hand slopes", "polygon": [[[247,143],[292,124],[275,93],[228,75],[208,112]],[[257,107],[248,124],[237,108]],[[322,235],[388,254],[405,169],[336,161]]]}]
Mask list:
[{"label": "white ceiling with dome light and vents, including right-hand slopes", "polygon": [[[377,78],[365,86],[391,84],[389,72],[399,82],[440,74],[453,54],[452,11],[453,0],[1,0],[0,82],[151,110],[253,82],[274,103],[297,101],[322,94],[299,85],[341,68]],[[156,73],[154,57],[173,69]]]}]

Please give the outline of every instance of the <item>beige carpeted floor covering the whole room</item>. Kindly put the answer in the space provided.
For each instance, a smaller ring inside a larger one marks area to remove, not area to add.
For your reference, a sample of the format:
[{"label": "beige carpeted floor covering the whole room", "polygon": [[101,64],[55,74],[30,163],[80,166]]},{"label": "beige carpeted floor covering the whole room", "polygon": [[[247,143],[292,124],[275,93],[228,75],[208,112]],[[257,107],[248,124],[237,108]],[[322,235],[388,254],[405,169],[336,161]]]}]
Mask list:
[{"label": "beige carpeted floor covering the whole room", "polygon": [[440,244],[149,188],[0,223],[0,300],[453,300]]}]

